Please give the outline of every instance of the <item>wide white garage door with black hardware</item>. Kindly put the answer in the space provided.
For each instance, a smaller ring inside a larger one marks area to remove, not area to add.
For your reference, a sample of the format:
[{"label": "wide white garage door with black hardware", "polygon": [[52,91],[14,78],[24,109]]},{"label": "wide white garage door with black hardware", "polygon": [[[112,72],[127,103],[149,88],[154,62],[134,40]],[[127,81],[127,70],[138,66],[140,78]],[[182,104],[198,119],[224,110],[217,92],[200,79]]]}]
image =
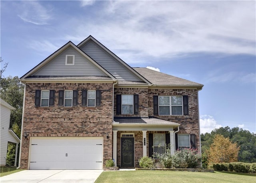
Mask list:
[{"label": "wide white garage door with black hardware", "polygon": [[102,138],[31,138],[29,169],[102,169]]}]

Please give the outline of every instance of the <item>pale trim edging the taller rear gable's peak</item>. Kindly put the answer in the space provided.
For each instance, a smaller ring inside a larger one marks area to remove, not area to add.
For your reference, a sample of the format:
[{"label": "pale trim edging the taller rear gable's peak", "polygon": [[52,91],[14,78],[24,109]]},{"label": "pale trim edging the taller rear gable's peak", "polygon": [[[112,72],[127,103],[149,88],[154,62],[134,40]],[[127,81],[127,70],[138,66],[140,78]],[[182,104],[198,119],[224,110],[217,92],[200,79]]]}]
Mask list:
[{"label": "pale trim edging the taller rear gable's peak", "polygon": [[126,69],[128,69],[129,71],[131,71],[134,75],[136,75],[136,77],[140,78],[142,81],[144,81],[145,83],[147,83],[148,85],[152,85],[152,83],[150,83],[150,81],[148,81],[146,78],[144,78],[142,75],[140,75],[137,71],[135,71],[134,69],[132,69],[132,67],[130,67],[127,63],[125,63],[124,61],[122,61],[122,59],[120,59],[118,56],[116,56],[112,51],[110,51],[108,48],[106,48],[104,45],[102,45],[102,43],[100,43],[98,40],[96,40],[94,37],[92,37],[91,35],[89,37],[87,37],[86,39],[84,39],[84,41],[82,41],[81,43],[79,43],[77,45],[77,47],[81,48],[83,47],[88,41],[94,41],[94,43],[96,43],[98,46],[100,46],[102,49],[104,49],[104,51],[106,51],[108,54],[110,54],[112,57],[114,57],[114,59],[116,59],[117,61],[119,61],[119,63],[121,65],[123,65]]}]

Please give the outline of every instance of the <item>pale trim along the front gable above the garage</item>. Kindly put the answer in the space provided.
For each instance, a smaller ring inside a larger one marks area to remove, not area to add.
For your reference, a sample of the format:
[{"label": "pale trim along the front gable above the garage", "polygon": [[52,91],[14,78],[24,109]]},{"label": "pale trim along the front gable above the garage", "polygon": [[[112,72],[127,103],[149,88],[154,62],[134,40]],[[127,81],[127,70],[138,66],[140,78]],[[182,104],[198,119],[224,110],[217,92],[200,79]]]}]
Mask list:
[{"label": "pale trim along the front gable above the garage", "polygon": [[76,45],[74,45],[74,43],[72,43],[71,41],[69,41],[68,43],[66,43],[64,46],[62,46],[60,49],[58,49],[57,51],[55,51],[54,53],[52,53],[52,55],[50,55],[49,57],[47,57],[44,61],[42,61],[41,63],[39,63],[36,67],[34,67],[33,69],[31,69],[30,71],[28,71],[28,73],[26,73],[25,75],[23,75],[20,80],[21,81],[26,81],[26,77],[32,75],[33,73],[35,73],[36,71],[38,71],[39,69],[41,69],[44,65],[46,65],[47,63],[49,63],[50,61],[52,61],[52,59],[54,59],[57,55],[59,55],[60,53],[62,53],[64,50],[66,50],[68,47],[72,47],[74,48],[76,51],[78,51],[78,53],[80,53],[82,56],[84,56],[86,59],[88,59],[88,61],[90,61],[90,63],[92,63],[94,66],[96,66],[98,69],[100,69],[100,71],[102,71],[104,74],[106,74],[108,77],[110,77],[112,80],[116,81],[116,78],[114,76],[112,76],[108,71],[106,71],[101,65],[99,65],[98,63],[96,63],[96,61],[94,61],[91,57],[89,57],[86,53],[84,53],[81,49],[79,49],[78,47],[76,47]]}]

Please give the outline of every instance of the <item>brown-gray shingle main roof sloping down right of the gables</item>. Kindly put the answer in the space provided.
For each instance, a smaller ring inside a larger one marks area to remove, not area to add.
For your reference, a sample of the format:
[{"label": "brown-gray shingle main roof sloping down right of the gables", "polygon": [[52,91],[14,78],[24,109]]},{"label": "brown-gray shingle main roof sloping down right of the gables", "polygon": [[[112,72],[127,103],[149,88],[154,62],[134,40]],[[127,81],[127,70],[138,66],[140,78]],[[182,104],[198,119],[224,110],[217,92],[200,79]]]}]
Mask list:
[{"label": "brown-gray shingle main roof sloping down right of the gables", "polygon": [[174,87],[198,87],[202,88],[204,85],[188,81],[186,79],[178,78],[172,75],[164,74],[145,67],[134,67],[140,75],[146,78],[154,86],[174,86]]}]

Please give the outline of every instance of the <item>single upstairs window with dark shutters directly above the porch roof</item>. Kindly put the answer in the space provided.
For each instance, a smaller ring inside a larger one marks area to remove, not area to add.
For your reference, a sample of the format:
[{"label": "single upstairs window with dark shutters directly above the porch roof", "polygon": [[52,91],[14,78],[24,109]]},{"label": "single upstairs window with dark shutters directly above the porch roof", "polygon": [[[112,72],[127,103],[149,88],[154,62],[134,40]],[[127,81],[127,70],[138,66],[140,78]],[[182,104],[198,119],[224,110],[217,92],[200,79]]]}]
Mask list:
[{"label": "single upstairs window with dark shutters directly above the porch roof", "polygon": [[116,114],[139,114],[138,94],[117,94]]}]

